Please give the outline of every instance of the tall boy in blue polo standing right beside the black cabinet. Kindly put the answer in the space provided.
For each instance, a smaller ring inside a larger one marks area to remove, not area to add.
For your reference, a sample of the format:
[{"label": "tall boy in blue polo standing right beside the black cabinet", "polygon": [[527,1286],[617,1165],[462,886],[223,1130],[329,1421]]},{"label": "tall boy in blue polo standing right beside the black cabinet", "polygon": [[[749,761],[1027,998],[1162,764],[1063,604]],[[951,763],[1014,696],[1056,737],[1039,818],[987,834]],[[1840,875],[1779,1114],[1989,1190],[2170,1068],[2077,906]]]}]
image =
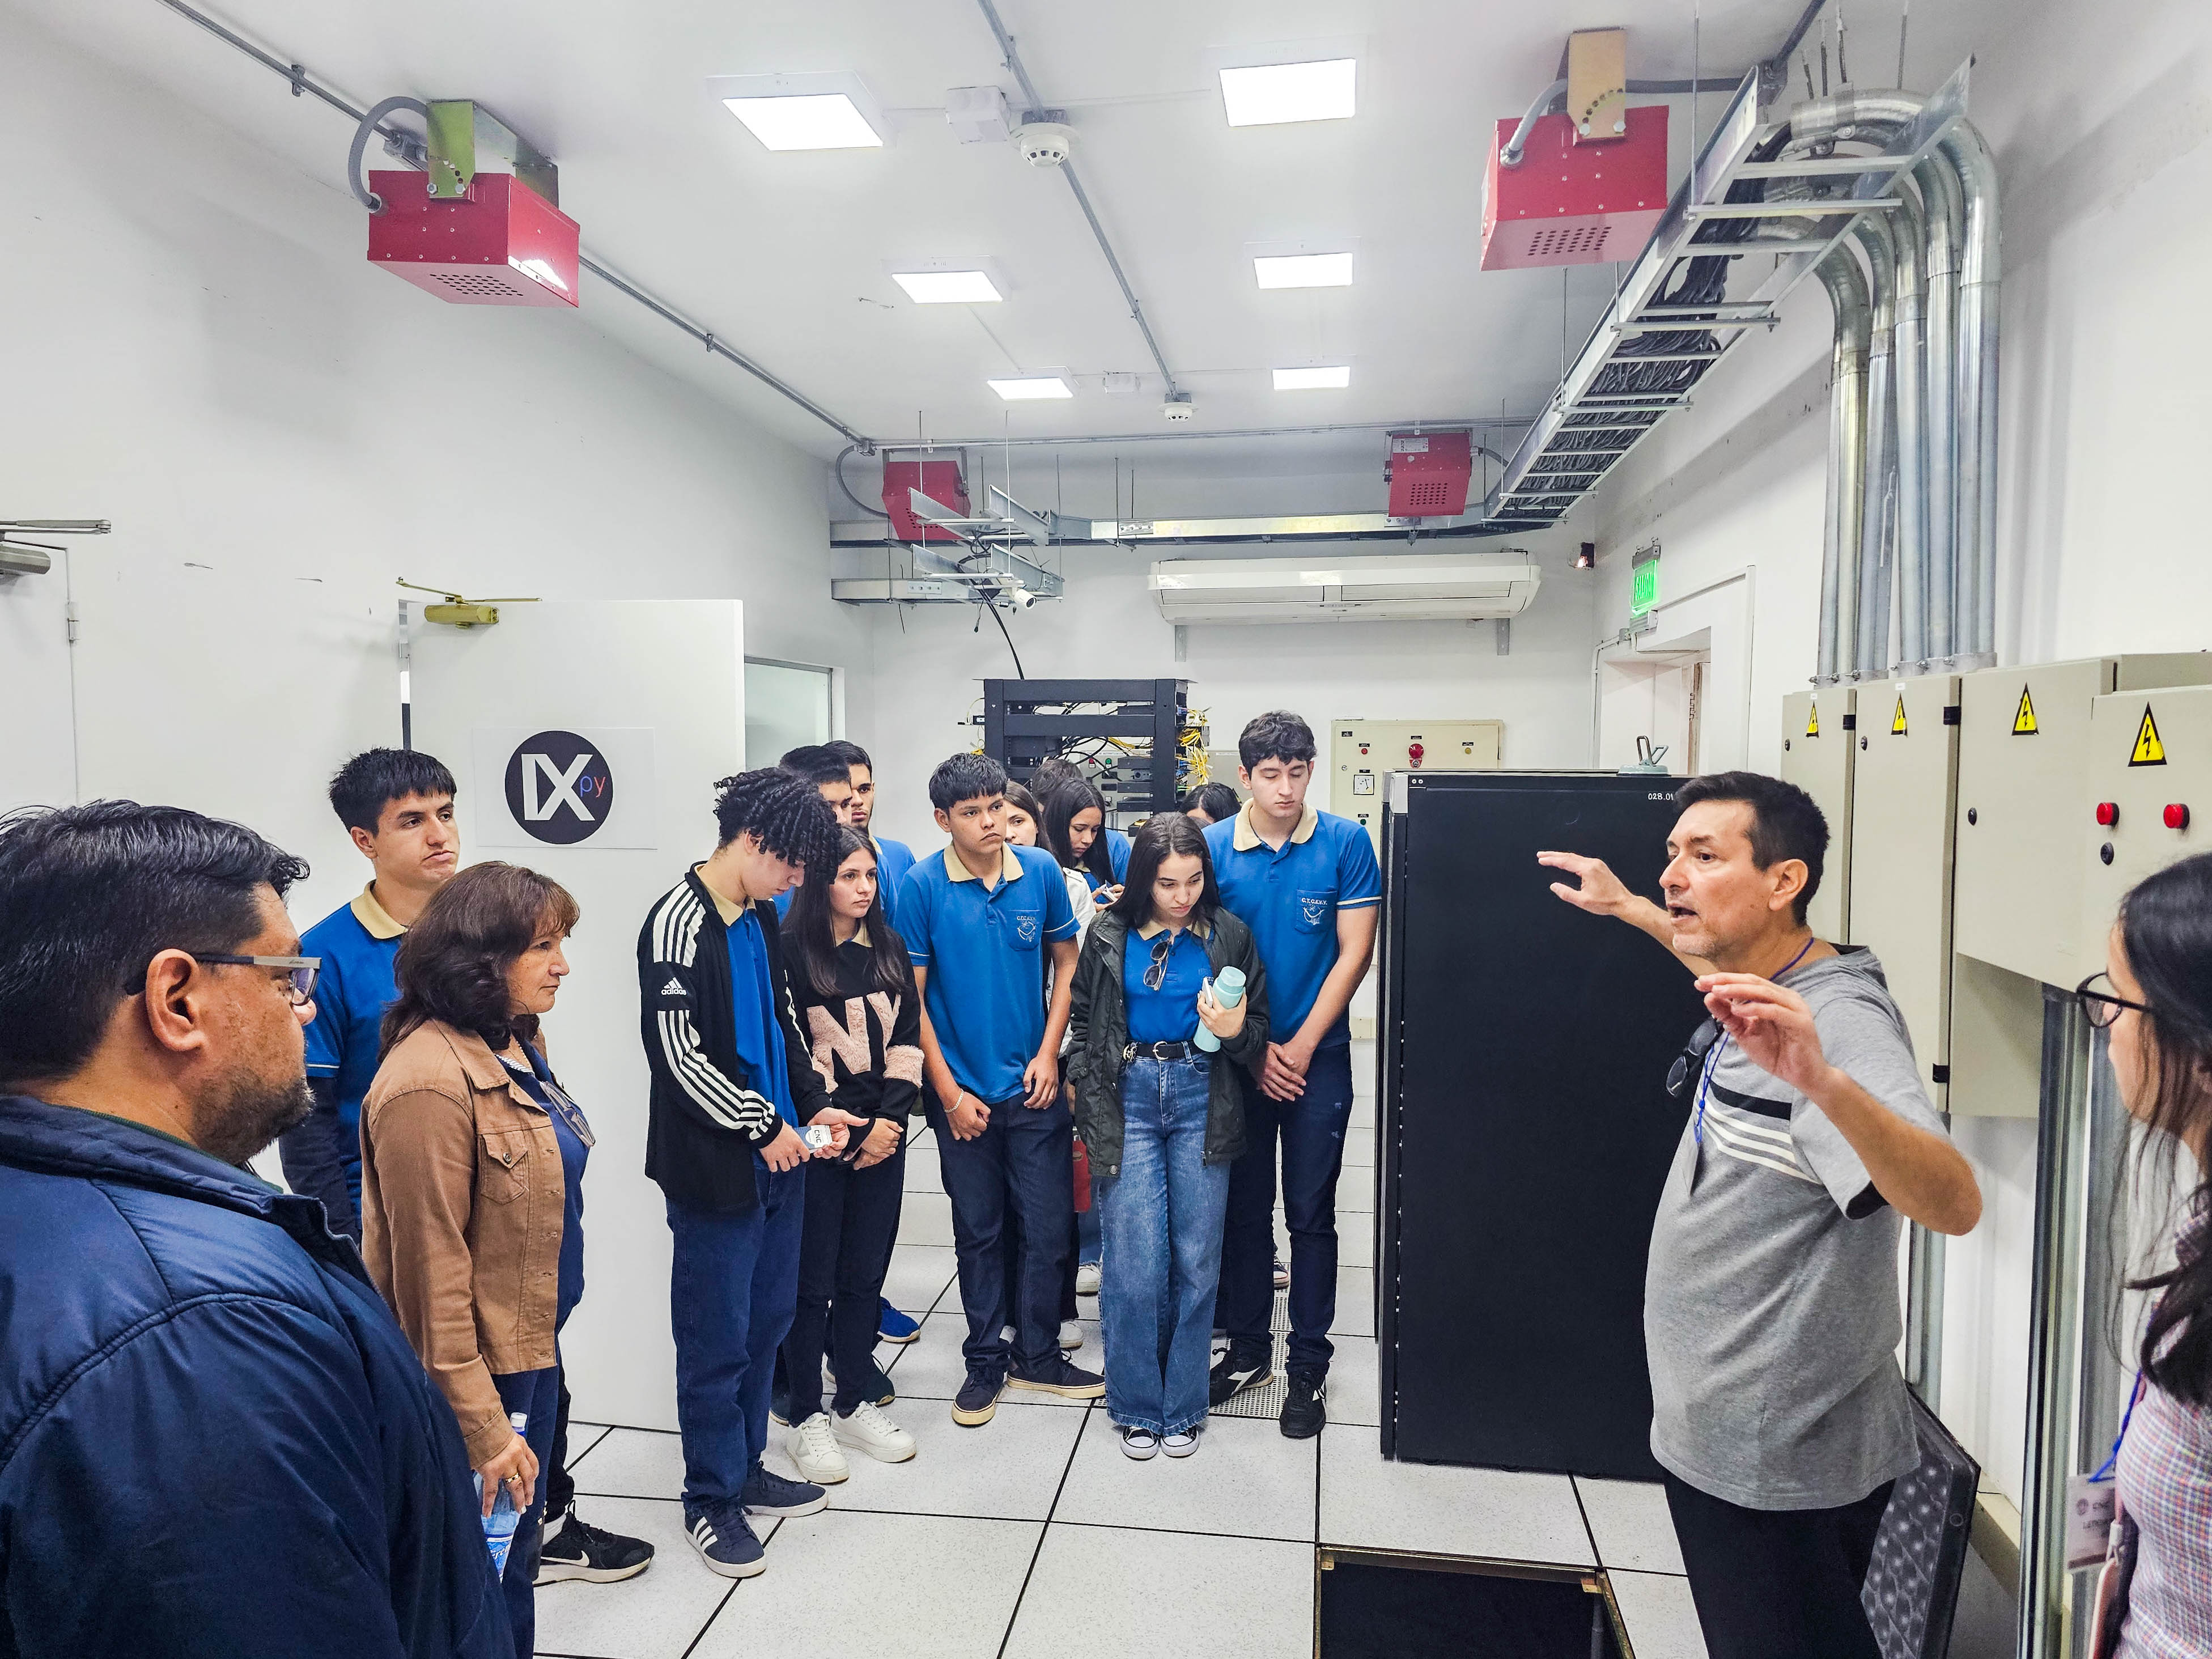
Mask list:
[{"label": "tall boy in blue polo standing right beside the black cabinet", "polygon": [[1327,1420],[1329,1325],[1336,1323],[1336,1177],[1352,1119],[1352,1026],[1345,1009],[1367,978],[1383,872],[1367,832],[1305,805],[1314,732],[1285,710],[1237,739],[1245,807],[1206,830],[1221,905],[1259,940],[1272,1006],[1265,1060],[1241,1077],[1245,1155],[1230,1168],[1221,1239],[1221,1325],[1212,1405],[1272,1380],[1274,1148],[1283,1146],[1290,1228],[1290,1391],[1283,1433],[1305,1440]]}]

